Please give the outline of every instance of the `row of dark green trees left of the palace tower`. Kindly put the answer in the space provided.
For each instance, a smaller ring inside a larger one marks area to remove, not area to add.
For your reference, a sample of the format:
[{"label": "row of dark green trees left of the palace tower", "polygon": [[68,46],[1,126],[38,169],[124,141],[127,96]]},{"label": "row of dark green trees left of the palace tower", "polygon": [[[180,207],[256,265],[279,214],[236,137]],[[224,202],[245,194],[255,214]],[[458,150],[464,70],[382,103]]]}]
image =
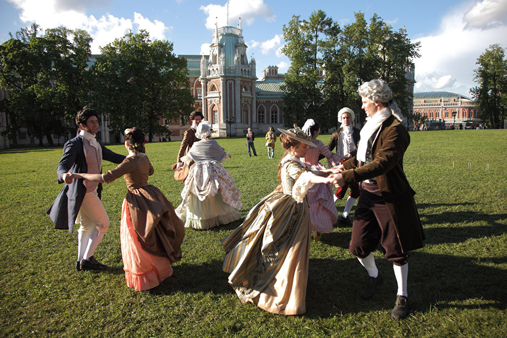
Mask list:
[{"label": "row of dark green trees left of the palace tower", "polygon": [[[160,119],[185,121],[193,110],[187,60],[173,53],[168,41],[150,40],[131,31],[101,47],[89,65],[93,39],[81,29],[46,29],[33,23],[0,46],[0,86],[8,97],[0,102],[7,114],[3,131],[15,136],[22,126],[39,139],[76,130],[76,112],[93,108],[111,129],[141,127],[150,141],[167,133]],[[70,123],[67,123],[70,121]]]}]

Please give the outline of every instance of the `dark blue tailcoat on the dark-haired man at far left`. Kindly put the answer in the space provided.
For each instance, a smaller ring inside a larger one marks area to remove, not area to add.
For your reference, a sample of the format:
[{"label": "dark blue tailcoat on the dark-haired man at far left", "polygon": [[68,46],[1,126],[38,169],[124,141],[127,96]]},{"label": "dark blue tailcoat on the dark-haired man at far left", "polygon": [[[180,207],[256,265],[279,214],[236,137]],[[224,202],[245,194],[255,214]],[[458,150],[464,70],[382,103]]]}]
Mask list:
[{"label": "dark blue tailcoat on the dark-haired man at far left", "polygon": [[[121,163],[125,159],[124,155],[112,152],[100,142],[99,144],[102,148],[103,160]],[[85,152],[83,150],[83,137],[81,135],[65,143],[63,155],[58,163],[56,172],[58,174],[58,183],[63,183],[63,173],[81,174],[88,172],[88,164],[86,163]],[[101,191],[102,184],[99,183],[97,187],[99,198]],[[56,229],[68,229],[68,232],[72,233],[85,194],[84,179],[74,179],[72,183],[63,186],[53,205],[48,210],[49,218],[55,224]]]}]

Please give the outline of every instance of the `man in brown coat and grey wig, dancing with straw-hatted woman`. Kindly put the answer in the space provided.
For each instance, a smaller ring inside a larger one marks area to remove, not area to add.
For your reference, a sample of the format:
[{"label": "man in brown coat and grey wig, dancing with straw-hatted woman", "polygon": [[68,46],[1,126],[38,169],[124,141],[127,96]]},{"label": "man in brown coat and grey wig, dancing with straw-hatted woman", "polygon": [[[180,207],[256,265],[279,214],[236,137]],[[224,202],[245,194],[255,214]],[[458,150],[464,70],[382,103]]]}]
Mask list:
[{"label": "man in brown coat and grey wig, dancing with straw-hatted woman", "polygon": [[379,241],[387,260],[393,262],[398,284],[391,317],[408,315],[408,252],[423,247],[424,233],[414,201],[414,190],[403,171],[403,155],[410,143],[400,109],[391,89],[381,80],[359,86],[367,123],[361,129],[356,156],[340,167],[335,183],[360,182],[360,197],[352,225],[349,251],[366,268],[369,279],[361,297],[371,298],[383,276],[372,252]]}]

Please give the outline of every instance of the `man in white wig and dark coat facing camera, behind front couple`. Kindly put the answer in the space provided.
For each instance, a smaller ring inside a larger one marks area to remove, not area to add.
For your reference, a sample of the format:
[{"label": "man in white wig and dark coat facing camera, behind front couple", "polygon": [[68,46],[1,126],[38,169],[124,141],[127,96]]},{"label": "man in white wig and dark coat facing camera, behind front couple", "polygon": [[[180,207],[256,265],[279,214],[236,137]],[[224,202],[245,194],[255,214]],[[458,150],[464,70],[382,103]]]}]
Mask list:
[{"label": "man in white wig and dark coat facing camera, behind front couple", "polygon": [[[331,139],[328,142],[328,149],[333,151],[336,148],[336,153],[340,156],[340,161],[343,163],[345,160],[354,156],[357,152],[357,144],[359,144],[360,133],[359,129],[354,128],[352,122],[354,121],[355,115],[352,109],[342,108],[338,112],[338,122],[341,123],[340,128],[336,129],[331,135]],[[319,159],[323,156],[320,155]],[[343,187],[338,186],[336,188],[334,201],[342,199],[350,187],[350,195],[347,197],[345,208],[338,222],[343,226],[352,226],[352,222],[348,218],[355,201],[359,197],[359,184],[352,183],[346,184]]]}]

